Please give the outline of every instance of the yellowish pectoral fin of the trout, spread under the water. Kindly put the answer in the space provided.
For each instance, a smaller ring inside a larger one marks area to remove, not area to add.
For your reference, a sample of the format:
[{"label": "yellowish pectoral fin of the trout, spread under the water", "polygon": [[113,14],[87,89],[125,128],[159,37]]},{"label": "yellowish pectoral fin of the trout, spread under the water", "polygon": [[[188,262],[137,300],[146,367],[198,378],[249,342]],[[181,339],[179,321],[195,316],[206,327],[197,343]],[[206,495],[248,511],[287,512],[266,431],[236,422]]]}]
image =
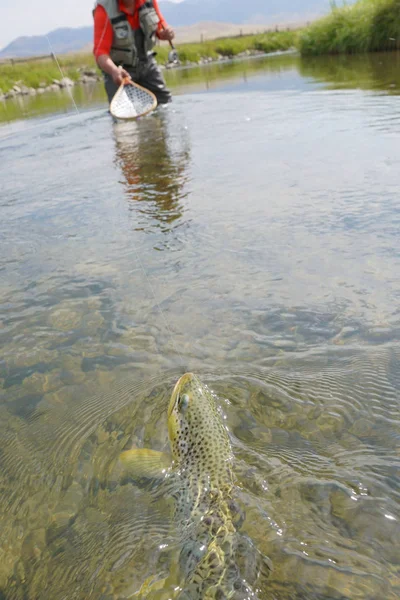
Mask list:
[{"label": "yellowish pectoral fin of the trout, spread under the water", "polygon": [[171,466],[171,458],[149,448],[134,448],[119,457],[121,475],[130,479],[161,479]]}]

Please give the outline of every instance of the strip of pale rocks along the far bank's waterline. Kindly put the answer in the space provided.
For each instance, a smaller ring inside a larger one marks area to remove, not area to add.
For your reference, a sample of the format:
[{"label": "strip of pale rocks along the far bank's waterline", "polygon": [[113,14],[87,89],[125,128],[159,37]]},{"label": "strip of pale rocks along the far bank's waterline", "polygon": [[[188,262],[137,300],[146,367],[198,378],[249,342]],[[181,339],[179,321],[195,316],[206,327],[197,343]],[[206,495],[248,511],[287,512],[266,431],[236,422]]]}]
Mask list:
[{"label": "strip of pale rocks along the far bank's waterline", "polygon": [[[273,54],[276,54],[275,52]],[[218,55],[216,58],[212,57],[203,57],[198,62],[190,62],[185,61],[184,63],[167,63],[165,65],[160,65],[162,69],[177,69],[177,68],[188,68],[188,67],[197,67],[208,65],[210,63],[217,62],[226,62],[232,60],[233,58],[248,58],[251,56],[263,56],[265,52],[259,50],[246,50],[245,52],[241,52],[236,56],[223,56]],[[82,67],[78,69],[79,77],[76,81],[72,80],[70,77],[63,77],[62,79],[53,79],[52,83],[40,83],[39,87],[28,87],[24,84],[23,81],[16,81],[13,87],[4,92],[0,89],[0,101],[5,101],[13,98],[17,98],[20,96],[39,96],[48,92],[57,92],[60,90],[71,89],[76,85],[90,85],[95,84],[98,81],[102,81],[102,75],[96,69],[90,69],[87,67]]]}]

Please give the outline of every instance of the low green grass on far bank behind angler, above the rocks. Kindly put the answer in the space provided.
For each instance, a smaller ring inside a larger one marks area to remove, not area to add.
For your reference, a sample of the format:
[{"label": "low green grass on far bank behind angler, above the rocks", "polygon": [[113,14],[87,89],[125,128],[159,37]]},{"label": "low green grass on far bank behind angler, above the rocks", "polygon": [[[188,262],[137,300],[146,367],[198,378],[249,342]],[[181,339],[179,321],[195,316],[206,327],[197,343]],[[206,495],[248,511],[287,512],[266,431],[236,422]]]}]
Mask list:
[{"label": "low green grass on far bank behind angler, above the rocks", "polygon": [[[204,58],[216,59],[218,55],[234,57],[246,50],[263,52],[288,50],[295,45],[297,35],[294,31],[246,35],[198,44],[177,44],[177,50],[183,64],[194,63]],[[164,42],[157,46],[156,50],[158,62],[165,64],[169,46]],[[92,54],[60,55],[57,58],[63,74],[74,81],[79,78],[79,68],[96,67]],[[50,58],[14,64],[0,63],[0,89],[3,92],[10,90],[17,82],[38,88],[41,83],[46,85],[52,83],[53,79],[61,79],[61,73],[57,63]]]}]

